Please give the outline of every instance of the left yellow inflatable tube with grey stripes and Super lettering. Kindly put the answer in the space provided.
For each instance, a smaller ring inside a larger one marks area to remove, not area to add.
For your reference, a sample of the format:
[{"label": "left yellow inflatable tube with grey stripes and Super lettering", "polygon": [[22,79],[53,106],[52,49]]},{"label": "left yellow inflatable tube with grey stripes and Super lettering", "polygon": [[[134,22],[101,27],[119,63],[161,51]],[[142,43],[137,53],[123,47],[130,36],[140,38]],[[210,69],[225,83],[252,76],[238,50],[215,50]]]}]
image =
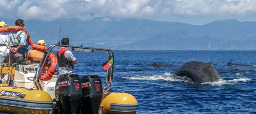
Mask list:
[{"label": "left yellow inflatable tube with grey stripes and Super lettering", "polygon": [[51,96],[42,90],[0,87],[0,112],[17,114],[49,114]]}]

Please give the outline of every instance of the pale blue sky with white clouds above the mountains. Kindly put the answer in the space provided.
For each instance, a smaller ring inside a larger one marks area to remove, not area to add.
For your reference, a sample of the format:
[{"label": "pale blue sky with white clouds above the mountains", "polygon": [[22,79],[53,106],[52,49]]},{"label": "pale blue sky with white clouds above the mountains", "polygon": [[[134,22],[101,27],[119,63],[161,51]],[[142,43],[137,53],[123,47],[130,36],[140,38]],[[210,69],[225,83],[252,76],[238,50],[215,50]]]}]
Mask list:
[{"label": "pale blue sky with white clouds above the mountains", "polygon": [[256,0],[0,0],[0,17],[53,21],[60,18],[145,18],[203,25],[214,20],[256,22]]}]

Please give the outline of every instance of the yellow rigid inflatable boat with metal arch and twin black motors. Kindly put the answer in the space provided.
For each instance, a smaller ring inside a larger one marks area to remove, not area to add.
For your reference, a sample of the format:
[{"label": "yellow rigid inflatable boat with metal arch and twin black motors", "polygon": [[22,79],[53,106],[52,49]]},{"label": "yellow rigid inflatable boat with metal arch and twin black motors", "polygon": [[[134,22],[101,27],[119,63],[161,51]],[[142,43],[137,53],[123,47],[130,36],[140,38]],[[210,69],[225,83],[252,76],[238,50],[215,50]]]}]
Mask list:
[{"label": "yellow rigid inflatable boat with metal arch and twin black motors", "polygon": [[[10,29],[9,29],[10,30]],[[1,30],[0,30],[1,31]],[[31,41],[32,42],[32,41]],[[33,49],[44,50],[37,65],[26,62],[1,67],[3,74],[15,74],[14,86],[0,83],[0,112],[10,114],[135,114],[138,102],[125,92],[109,92],[112,86],[112,65],[106,70],[106,84],[100,76],[75,73],[57,75],[57,60],[51,53],[54,47],[72,48],[73,51],[105,51],[107,60],[113,59],[110,49],[50,45],[47,49],[32,43]],[[54,74],[55,73],[55,74]]]}]

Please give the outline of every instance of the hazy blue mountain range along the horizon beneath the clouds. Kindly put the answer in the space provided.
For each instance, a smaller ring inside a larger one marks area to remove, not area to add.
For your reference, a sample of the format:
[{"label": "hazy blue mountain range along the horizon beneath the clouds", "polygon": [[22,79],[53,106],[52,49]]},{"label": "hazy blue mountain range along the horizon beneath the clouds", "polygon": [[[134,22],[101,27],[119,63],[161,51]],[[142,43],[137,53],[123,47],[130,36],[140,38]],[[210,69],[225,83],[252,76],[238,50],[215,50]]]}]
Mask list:
[{"label": "hazy blue mountain range along the horizon beneath the clouds", "polygon": [[[3,19],[14,26],[14,19]],[[62,37],[71,45],[110,49],[256,49],[256,22],[214,21],[203,26],[158,22],[147,19],[93,18],[62,19]],[[26,20],[25,28],[34,43],[59,40],[60,20],[44,22]]]}]

